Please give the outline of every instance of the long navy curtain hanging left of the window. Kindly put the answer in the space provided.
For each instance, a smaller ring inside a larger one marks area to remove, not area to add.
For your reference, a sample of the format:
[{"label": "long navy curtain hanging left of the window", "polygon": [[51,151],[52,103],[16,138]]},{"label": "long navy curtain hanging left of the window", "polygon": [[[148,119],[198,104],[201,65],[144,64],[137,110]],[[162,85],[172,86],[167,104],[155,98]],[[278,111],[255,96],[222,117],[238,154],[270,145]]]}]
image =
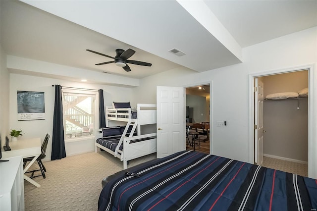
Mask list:
[{"label": "long navy curtain hanging left of the window", "polygon": [[55,104],[53,116],[53,138],[51,160],[66,157],[64,127],[63,127],[63,106],[61,86],[55,85]]}]

